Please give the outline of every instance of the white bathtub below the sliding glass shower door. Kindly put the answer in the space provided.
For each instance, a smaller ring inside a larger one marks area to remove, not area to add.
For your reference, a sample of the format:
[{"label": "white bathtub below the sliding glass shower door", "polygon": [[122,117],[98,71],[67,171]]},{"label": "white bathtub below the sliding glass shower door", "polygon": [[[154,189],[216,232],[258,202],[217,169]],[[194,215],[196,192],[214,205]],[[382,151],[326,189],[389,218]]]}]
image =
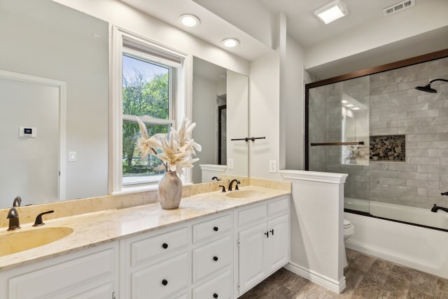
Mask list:
[{"label": "white bathtub below the sliding glass shower door", "polygon": [[[346,208],[350,209],[350,207]],[[400,221],[419,222],[418,224],[427,226],[447,225],[448,221],[448,214],[442,214],[440,211],[433,213],[426,209],[401,207],[381,202],[370,202],[370,211],[374,216],[384,218],[396,219],[398,214],[402,214]],[[353,236],[345,242],[346,248],[448,279],[447,230],[436,230],[348,212],[344,213],[344,218],[351,221],[355,227]],[[422,218],[427,219],[421,221]]]}]

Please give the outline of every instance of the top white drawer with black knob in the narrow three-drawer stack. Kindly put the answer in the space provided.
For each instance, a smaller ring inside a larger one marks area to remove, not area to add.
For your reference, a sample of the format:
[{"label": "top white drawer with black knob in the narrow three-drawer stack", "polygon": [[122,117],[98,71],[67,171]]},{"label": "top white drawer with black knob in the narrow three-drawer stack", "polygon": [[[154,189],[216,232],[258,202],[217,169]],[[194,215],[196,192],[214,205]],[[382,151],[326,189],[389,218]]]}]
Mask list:
[{"label": "top white drawer with black knob in the narrow three-drawer stack", "polygon": [[232,229],[230,214],[193,225],[193,244],[210,237],[220,237]]}]

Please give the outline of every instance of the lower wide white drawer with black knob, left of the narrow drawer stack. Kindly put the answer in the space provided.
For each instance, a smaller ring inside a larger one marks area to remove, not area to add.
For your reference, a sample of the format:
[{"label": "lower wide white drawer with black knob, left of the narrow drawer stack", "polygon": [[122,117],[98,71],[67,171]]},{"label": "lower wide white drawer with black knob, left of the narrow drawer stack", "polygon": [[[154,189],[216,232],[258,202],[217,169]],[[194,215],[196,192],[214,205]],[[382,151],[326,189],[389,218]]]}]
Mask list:
[{"label": "lower wide white drawer with black knob, left of the narrow drawer stack", "polygon": [[167,298],[188,286],[188,253],[132,273],[132,299]]}]

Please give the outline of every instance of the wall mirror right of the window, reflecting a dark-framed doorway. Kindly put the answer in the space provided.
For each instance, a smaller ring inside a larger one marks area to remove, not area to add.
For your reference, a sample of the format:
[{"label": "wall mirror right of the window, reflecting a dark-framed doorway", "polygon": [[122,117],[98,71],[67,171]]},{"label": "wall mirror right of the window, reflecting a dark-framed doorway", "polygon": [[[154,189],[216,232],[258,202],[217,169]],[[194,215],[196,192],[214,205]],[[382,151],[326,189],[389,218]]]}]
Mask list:
[{"label": "wall mirror right of the window, reflecting a dark-framed doorway", "polygon": [[[194,138],[201,144],[193,183],[213,176],[248,176],[248,78],[193,59]],[[201,165],[201,166],[200,166]]]}]

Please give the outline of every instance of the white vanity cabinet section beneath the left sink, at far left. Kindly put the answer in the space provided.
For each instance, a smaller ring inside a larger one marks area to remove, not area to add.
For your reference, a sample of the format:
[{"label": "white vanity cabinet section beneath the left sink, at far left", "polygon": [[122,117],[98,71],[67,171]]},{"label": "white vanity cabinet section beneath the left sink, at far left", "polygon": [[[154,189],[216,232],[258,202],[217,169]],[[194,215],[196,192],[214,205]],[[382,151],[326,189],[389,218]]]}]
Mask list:
[{"label": "white vanity cabinet section beneath the left sink, at far left", "polygon": [[118,242],[0,272],[0,298],[111,299],[118,293]]}]

